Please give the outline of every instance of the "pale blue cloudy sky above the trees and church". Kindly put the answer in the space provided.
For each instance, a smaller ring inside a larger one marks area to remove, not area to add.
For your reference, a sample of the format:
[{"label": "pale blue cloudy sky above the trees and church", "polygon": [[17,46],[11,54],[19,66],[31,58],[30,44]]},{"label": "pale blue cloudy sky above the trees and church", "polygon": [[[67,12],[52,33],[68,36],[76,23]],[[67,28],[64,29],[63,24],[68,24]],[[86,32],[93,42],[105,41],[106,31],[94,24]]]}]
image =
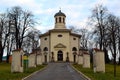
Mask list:
[{"label": "pale blue cloudy sky above the trees and church", "polygon": [[87,18],[96,4],[103,4],[113,14],[120,16],[120,0],[0,0],[0,13],[7,8],[20,6],[31,11],[40,25],[35,27],[41,32],[54,28],[54,14],[66,14],[66,26],[86,27]]}]

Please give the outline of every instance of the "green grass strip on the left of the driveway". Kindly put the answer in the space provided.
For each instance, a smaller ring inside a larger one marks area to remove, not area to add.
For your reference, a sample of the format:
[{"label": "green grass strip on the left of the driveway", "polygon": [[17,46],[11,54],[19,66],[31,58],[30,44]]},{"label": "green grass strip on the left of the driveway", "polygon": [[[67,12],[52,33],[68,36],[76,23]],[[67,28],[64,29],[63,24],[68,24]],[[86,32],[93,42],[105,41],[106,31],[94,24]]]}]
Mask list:
[{"label": "green grass strip on the left of the driveway", "polygon": [[0,80],[21,80],[31,73],[42,69],[45,65],[37,66],[36,68],[28,68],[24,73],[11,73],[11,65],[8,63],[0,63]]}]

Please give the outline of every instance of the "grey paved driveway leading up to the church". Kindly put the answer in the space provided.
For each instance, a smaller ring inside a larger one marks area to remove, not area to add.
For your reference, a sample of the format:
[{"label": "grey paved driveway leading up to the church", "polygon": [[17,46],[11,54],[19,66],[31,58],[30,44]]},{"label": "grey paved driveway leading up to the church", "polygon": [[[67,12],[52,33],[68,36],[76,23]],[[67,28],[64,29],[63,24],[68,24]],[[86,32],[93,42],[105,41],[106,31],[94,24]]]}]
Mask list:
[{"label": "grey paved driveway leading up to the church", "polygon": [[69,63],[49,63],[48,67],[26,80],[86,80]]}]

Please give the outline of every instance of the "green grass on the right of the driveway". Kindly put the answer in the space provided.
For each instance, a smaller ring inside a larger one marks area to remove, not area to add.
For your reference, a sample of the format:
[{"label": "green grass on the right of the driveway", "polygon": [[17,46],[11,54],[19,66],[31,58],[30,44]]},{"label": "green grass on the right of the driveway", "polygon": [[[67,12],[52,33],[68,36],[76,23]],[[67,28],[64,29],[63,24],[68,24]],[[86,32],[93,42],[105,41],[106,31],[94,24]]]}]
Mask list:
[{"label": "green grass on the right of the driveway", "polygon": [[116,68],[116,78],[114,77],[114,67],[112,64],[106,64],[105,73],[94,73],[92,68],[82,68],[82,65],[73,64],[73,66],[83,74],[91,78],[91,80],[120,80],[120,66]]}]

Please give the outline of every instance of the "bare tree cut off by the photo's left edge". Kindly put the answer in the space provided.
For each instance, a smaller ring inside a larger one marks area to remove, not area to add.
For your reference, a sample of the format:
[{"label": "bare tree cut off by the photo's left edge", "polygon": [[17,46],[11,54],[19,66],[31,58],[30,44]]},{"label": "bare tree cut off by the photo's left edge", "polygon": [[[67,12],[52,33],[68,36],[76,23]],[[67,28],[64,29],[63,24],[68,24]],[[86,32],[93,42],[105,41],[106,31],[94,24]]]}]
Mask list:
[{"label": "bare tree cut off by the photo's left edge", "polygon": [[2,57],[8,36],[9,36],[9,27],[8,27],[7,16],[6,14],[1,14],[0,15],[0,62],[2,62]]}]

